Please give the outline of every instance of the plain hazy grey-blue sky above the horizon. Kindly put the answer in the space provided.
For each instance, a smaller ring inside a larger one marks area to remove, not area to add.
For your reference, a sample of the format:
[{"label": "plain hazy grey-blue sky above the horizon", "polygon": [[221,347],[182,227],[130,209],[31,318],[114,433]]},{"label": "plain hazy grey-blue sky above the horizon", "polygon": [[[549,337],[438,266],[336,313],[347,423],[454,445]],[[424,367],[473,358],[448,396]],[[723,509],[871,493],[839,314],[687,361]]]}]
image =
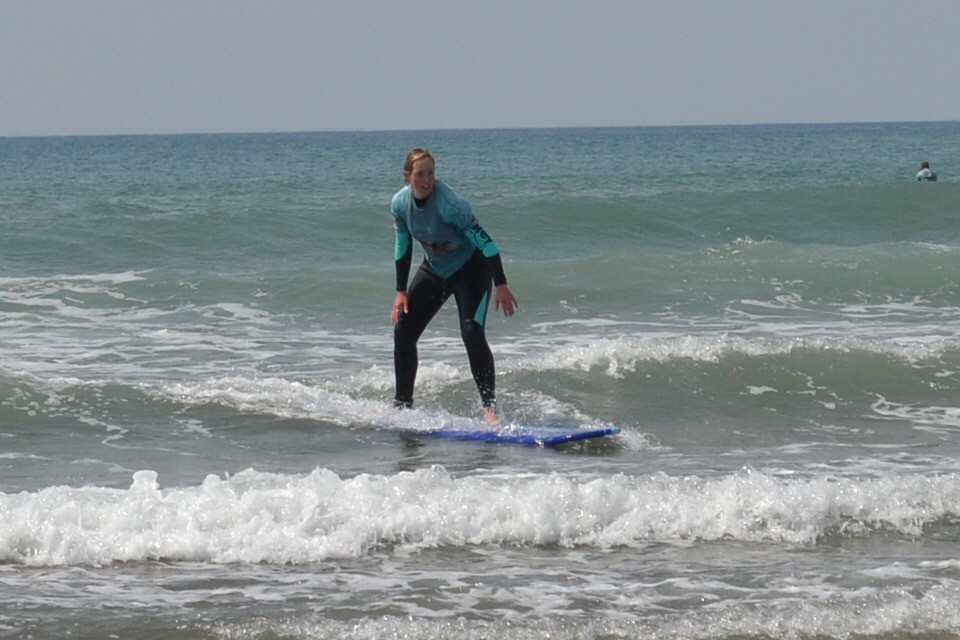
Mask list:
[{"label": "plain hazy grey-blue sky above the horizon", "polygon": [[958,0],[0,0],[0,136],[957,120],[958,64]]}]

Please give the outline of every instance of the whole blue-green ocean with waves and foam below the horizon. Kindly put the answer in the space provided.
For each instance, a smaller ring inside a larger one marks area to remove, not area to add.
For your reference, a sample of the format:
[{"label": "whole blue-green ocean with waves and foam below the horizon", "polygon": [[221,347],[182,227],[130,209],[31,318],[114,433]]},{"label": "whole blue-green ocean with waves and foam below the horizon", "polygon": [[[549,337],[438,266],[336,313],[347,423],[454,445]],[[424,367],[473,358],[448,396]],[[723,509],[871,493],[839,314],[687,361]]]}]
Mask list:
[{"label": "whole blue-green ocean with waves and foam below the horizon", "polygon": [[[415,146],[504,420],[618,435],[411,435],[480,422],[452,300],[391,408]],[[960,122],[0,139],[0,637],[960,638],[958,175]]]}]

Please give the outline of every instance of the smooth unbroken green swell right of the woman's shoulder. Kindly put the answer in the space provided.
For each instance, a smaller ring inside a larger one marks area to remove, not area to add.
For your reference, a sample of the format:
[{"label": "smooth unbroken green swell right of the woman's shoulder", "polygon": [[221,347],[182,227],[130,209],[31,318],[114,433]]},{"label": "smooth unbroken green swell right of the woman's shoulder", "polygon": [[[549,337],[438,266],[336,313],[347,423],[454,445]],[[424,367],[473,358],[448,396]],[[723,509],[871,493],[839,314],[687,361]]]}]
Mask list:
[{"label": "smooth unbroken green swell right of the woman's shoulder", "polygon": [[[498,240],[560,255],[604,247],[689,250],[736,238],[850,248],[898,242],[960,244],[958,185],[912,183],[765,191],[670,191],[630,197],[583,192],[491,202]],[[506,235],[498,234],[505,229]],[[509,231],[506,231],[506,230]],[[546,233],[545,233],[546,230]]]}]

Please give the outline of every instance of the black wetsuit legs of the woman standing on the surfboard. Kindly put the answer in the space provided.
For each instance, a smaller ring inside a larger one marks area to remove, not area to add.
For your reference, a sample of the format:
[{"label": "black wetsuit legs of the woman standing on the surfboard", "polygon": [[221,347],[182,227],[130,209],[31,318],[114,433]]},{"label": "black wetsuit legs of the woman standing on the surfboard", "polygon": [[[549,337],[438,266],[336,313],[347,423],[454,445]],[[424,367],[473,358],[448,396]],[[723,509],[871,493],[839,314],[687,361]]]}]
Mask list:
[{"label": "black wetsuit legs of the woman standing on the surfboard", "polygon": [[394,327],[393,359],[396,374],[396,398],[399,406],[413,405],[419,356],[417,341],[427,325],[453,295],[460,316],[460,335],[467,349],[470,371],[484,406],[496,399],[493,353],[487,344],[486,322],[492,290],[490,268],[477,251],[467,264],[449,278],[441,278],[424,262],[407,288],[410,311],[402,314]]}]

